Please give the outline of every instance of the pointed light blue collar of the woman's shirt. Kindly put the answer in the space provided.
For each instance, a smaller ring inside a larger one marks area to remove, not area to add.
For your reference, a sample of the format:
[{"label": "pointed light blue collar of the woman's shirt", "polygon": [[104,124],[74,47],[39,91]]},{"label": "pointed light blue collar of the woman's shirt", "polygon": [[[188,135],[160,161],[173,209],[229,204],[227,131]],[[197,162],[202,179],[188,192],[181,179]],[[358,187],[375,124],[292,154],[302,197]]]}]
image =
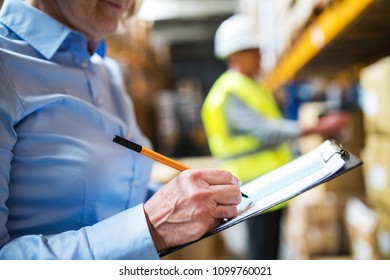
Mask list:
[{"label": "pointed light blue collar of the woman's shirt", "polygon": [[0,23],[51,59],[71,30],[42,11],[20,0],[5,0]]}]

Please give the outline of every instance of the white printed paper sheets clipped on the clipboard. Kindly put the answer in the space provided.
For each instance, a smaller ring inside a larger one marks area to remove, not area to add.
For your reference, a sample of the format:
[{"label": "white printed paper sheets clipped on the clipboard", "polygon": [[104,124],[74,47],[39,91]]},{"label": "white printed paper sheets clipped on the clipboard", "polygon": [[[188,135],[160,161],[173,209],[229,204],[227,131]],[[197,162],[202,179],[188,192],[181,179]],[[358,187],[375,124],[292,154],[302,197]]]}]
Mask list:
[{"label": "white printed paper sheets clipped on the clipboard", "polygon": [[338,148],[327,140],[309,153],[243,185],[242,192],[251,199],[243,199],[238,205],[238,216],[215,231],[261,213],[333,175],[345,164],[338,151]]}]

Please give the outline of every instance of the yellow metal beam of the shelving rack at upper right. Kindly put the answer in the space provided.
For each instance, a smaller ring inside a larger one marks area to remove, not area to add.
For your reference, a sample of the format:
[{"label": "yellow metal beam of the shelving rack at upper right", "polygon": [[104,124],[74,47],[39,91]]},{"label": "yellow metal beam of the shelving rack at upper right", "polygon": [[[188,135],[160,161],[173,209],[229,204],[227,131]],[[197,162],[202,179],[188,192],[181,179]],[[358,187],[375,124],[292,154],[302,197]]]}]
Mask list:
[{"label": "yellow metal beam of the shelving rack at upper right", "polygon": [[311,58],[378,0],[343,0],[331,5],[301,35],[265,81],[271,90],[288,82]]}]

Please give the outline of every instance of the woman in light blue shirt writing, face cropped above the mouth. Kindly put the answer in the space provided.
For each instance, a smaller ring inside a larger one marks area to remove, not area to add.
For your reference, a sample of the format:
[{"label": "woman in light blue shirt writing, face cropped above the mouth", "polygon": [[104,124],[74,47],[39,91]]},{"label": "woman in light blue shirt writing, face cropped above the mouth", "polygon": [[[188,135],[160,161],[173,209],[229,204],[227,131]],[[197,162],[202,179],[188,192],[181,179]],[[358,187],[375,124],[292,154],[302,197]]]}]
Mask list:
[{"label": "woman in light blue shirt writing, face cropped above the mouth", "polygon": [[[146,201],[150,147],[117,64],[95,53],[135,0],[5,0],[0,259],[158,259],[236,214],[239,182],[187,170]],[[136,106],[136,104],[135,104]]]}]

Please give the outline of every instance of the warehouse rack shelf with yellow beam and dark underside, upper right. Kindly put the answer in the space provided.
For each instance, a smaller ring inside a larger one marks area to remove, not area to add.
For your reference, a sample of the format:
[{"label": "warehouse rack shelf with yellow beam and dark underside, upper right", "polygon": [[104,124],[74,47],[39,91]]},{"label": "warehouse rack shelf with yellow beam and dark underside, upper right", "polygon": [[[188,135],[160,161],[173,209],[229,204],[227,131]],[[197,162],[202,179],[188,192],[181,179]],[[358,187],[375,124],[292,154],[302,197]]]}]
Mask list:
[{"label": "warehouse rack shelf with yellow beam and dark underside, upper right", "polygon": [[294,78],[331,76],[390,54],[390,1],[339,0],[305,29],[266,77],[271,90]]}]

